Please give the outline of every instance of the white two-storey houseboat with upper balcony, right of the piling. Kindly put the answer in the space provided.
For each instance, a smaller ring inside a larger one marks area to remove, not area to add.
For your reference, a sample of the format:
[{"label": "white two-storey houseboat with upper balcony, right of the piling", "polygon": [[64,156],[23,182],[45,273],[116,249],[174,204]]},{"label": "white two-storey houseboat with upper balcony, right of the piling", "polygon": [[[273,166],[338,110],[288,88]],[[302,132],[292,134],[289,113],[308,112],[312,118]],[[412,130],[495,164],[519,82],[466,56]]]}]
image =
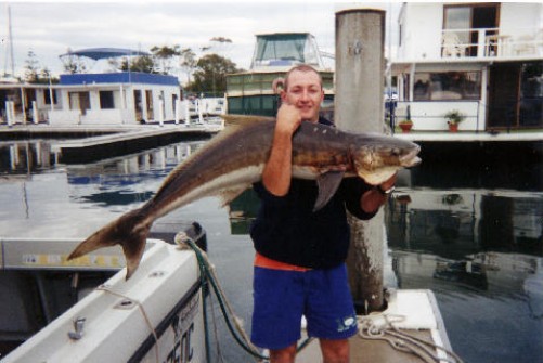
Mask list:
[{"label": "white two-storey houseboat with upper balcony, right of the piling", "polygon": [[398,22],[398,120],[442,131],[458,111],[461,131],[543,128],[541,2],[405,2]]}]

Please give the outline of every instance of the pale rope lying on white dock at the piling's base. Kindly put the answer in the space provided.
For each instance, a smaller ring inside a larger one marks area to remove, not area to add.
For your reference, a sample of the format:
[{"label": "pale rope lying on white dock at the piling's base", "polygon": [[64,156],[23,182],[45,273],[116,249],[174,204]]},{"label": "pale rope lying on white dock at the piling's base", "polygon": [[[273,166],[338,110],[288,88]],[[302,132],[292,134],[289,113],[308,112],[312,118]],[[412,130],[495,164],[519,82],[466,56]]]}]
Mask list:
[{"label": "pale rope lying on white dock at the piling's base", "polygon": [[[387,341],[393,349],[414,354],[426,363],[443,361],[451,363],[463,362],[454,352],[400,330],[395,323],[404,321],[405,316],[391,314],[383,314],[382,316],[385,319],[385,324],[383,325],[375,324],[369,316],[359,316],[359,336],[362,339]],[[447,356],[439,358],[437,354],[438,350],[444,352]]]}]

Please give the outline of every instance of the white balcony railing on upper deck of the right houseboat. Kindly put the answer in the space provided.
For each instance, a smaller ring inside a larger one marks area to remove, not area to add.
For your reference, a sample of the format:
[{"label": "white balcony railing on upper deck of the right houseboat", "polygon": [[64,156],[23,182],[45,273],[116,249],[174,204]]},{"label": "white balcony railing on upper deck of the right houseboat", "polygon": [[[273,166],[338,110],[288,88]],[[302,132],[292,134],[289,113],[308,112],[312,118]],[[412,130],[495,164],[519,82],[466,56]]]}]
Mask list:
[{"label": "white balcony railing on upper deck of the right houseboat", "polygon": [[441,57],[543,56],[543,29],[501,33],[499,28],[443,29]]}]

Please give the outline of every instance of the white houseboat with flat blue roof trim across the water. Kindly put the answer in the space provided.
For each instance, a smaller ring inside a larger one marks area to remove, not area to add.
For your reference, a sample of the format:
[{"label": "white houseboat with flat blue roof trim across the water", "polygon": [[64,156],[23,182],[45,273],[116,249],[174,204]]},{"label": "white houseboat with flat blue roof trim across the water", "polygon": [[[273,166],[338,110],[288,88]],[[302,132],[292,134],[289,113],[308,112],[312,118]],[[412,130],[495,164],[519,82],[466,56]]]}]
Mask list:
[{"label": "white houseboat with flat blue roof trim across the water", "polygon": [[51,125],[173,120],[181,99],[177,77],[133,72],[61,75],[56,90]]}]

